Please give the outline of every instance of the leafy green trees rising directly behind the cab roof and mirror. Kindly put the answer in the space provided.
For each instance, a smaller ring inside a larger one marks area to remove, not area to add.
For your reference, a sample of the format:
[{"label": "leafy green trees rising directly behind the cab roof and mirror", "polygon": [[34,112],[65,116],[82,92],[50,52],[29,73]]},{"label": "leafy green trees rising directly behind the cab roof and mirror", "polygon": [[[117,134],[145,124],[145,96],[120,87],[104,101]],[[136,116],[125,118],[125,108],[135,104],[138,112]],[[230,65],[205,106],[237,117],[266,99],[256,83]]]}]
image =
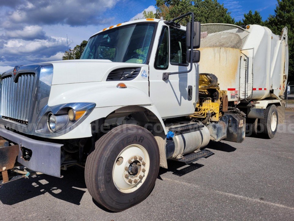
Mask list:
[{"label": "leafy green trees rising directly behind the cab roof and mirror", "polygon": [[[217,0],[156,0],[156,6],[156,18],[163,17],[165,20],[171,20],[192,11],[195,20],[201,23],[235,23],[228,9]],[[180,21],[180,24],[186,25],[189,20],[185,18]]]}]

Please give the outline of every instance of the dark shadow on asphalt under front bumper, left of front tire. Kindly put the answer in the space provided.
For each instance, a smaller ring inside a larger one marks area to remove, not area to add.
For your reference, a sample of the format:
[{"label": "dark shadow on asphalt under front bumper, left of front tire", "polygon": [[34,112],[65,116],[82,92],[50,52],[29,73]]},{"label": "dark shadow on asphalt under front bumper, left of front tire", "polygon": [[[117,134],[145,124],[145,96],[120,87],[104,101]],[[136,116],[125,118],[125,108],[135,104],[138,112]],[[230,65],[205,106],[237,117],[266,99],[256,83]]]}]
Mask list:
[{"label": "dark shadow on asphalt under front bumper, left of front tire", "polygon": [[[57,199],[80,205],[86,192],[84,169],[78,166],[62,171],[63,178],[38,175],[29,179],[15,180],[0,186],[0,201],[6,205],[14,205],[36,196],[49,193]],[[50,201],[50,200],[49,200]]]}]

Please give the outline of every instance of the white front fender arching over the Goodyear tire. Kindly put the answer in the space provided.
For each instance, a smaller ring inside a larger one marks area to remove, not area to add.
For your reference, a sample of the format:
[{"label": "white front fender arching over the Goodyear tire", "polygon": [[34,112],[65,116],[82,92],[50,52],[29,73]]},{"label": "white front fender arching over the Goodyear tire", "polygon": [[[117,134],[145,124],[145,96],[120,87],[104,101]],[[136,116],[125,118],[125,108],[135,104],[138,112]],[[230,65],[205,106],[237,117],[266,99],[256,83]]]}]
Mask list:
[{"label": "white front fender arching over the Goodyear tire", "polygon": [[[92,136],[91,122],[105,118],[115,110],[127,106],[141,106],[151,111],[164,129],[167,131],[164,122],[149,96],[142,90],[135,87],[117,88],[117,82],[92,85],[93,83],[81,84],[73,87],[72,84],[53,85],[48,101],[49,106],[73,102],[92,102],[96,107],[91,114],[75,129],[67,134],[55,137],[55,139],[73,139]],[[70,89],[69,89],[70,88]],[[74,89],[76,88],[76,89]],[[64,91],[62,93],[62,91]]]}]

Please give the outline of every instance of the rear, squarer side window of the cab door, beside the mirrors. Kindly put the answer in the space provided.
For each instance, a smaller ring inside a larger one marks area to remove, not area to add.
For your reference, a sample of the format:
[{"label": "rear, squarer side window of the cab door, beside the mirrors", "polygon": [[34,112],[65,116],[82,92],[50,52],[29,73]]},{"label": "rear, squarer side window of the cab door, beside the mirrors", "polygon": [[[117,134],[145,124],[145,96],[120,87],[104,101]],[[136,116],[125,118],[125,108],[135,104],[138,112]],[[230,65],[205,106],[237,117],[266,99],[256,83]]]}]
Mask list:
[{"label": "rear, squarer side window of the cab door, beside the mirrors", "polygon": [[186,32],[170,27],[171,34],[171,64],[187,64],[186,61]]}]

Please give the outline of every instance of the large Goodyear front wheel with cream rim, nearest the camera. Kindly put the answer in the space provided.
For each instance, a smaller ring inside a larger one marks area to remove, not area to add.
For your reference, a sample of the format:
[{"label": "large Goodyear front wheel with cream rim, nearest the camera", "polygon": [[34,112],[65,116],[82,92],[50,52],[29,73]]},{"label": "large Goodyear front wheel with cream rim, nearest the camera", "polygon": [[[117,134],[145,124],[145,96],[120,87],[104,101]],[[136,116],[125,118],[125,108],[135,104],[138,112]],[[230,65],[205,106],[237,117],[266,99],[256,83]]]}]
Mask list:
[{"label": "large Goodyear front wheel with cream rim, nearest the camera", "polygon": [[89,193],[111,211],[123,211],[152,191],[159,171],[154,136],[136,125],[121,125],[95,143],[85,166]]}]

